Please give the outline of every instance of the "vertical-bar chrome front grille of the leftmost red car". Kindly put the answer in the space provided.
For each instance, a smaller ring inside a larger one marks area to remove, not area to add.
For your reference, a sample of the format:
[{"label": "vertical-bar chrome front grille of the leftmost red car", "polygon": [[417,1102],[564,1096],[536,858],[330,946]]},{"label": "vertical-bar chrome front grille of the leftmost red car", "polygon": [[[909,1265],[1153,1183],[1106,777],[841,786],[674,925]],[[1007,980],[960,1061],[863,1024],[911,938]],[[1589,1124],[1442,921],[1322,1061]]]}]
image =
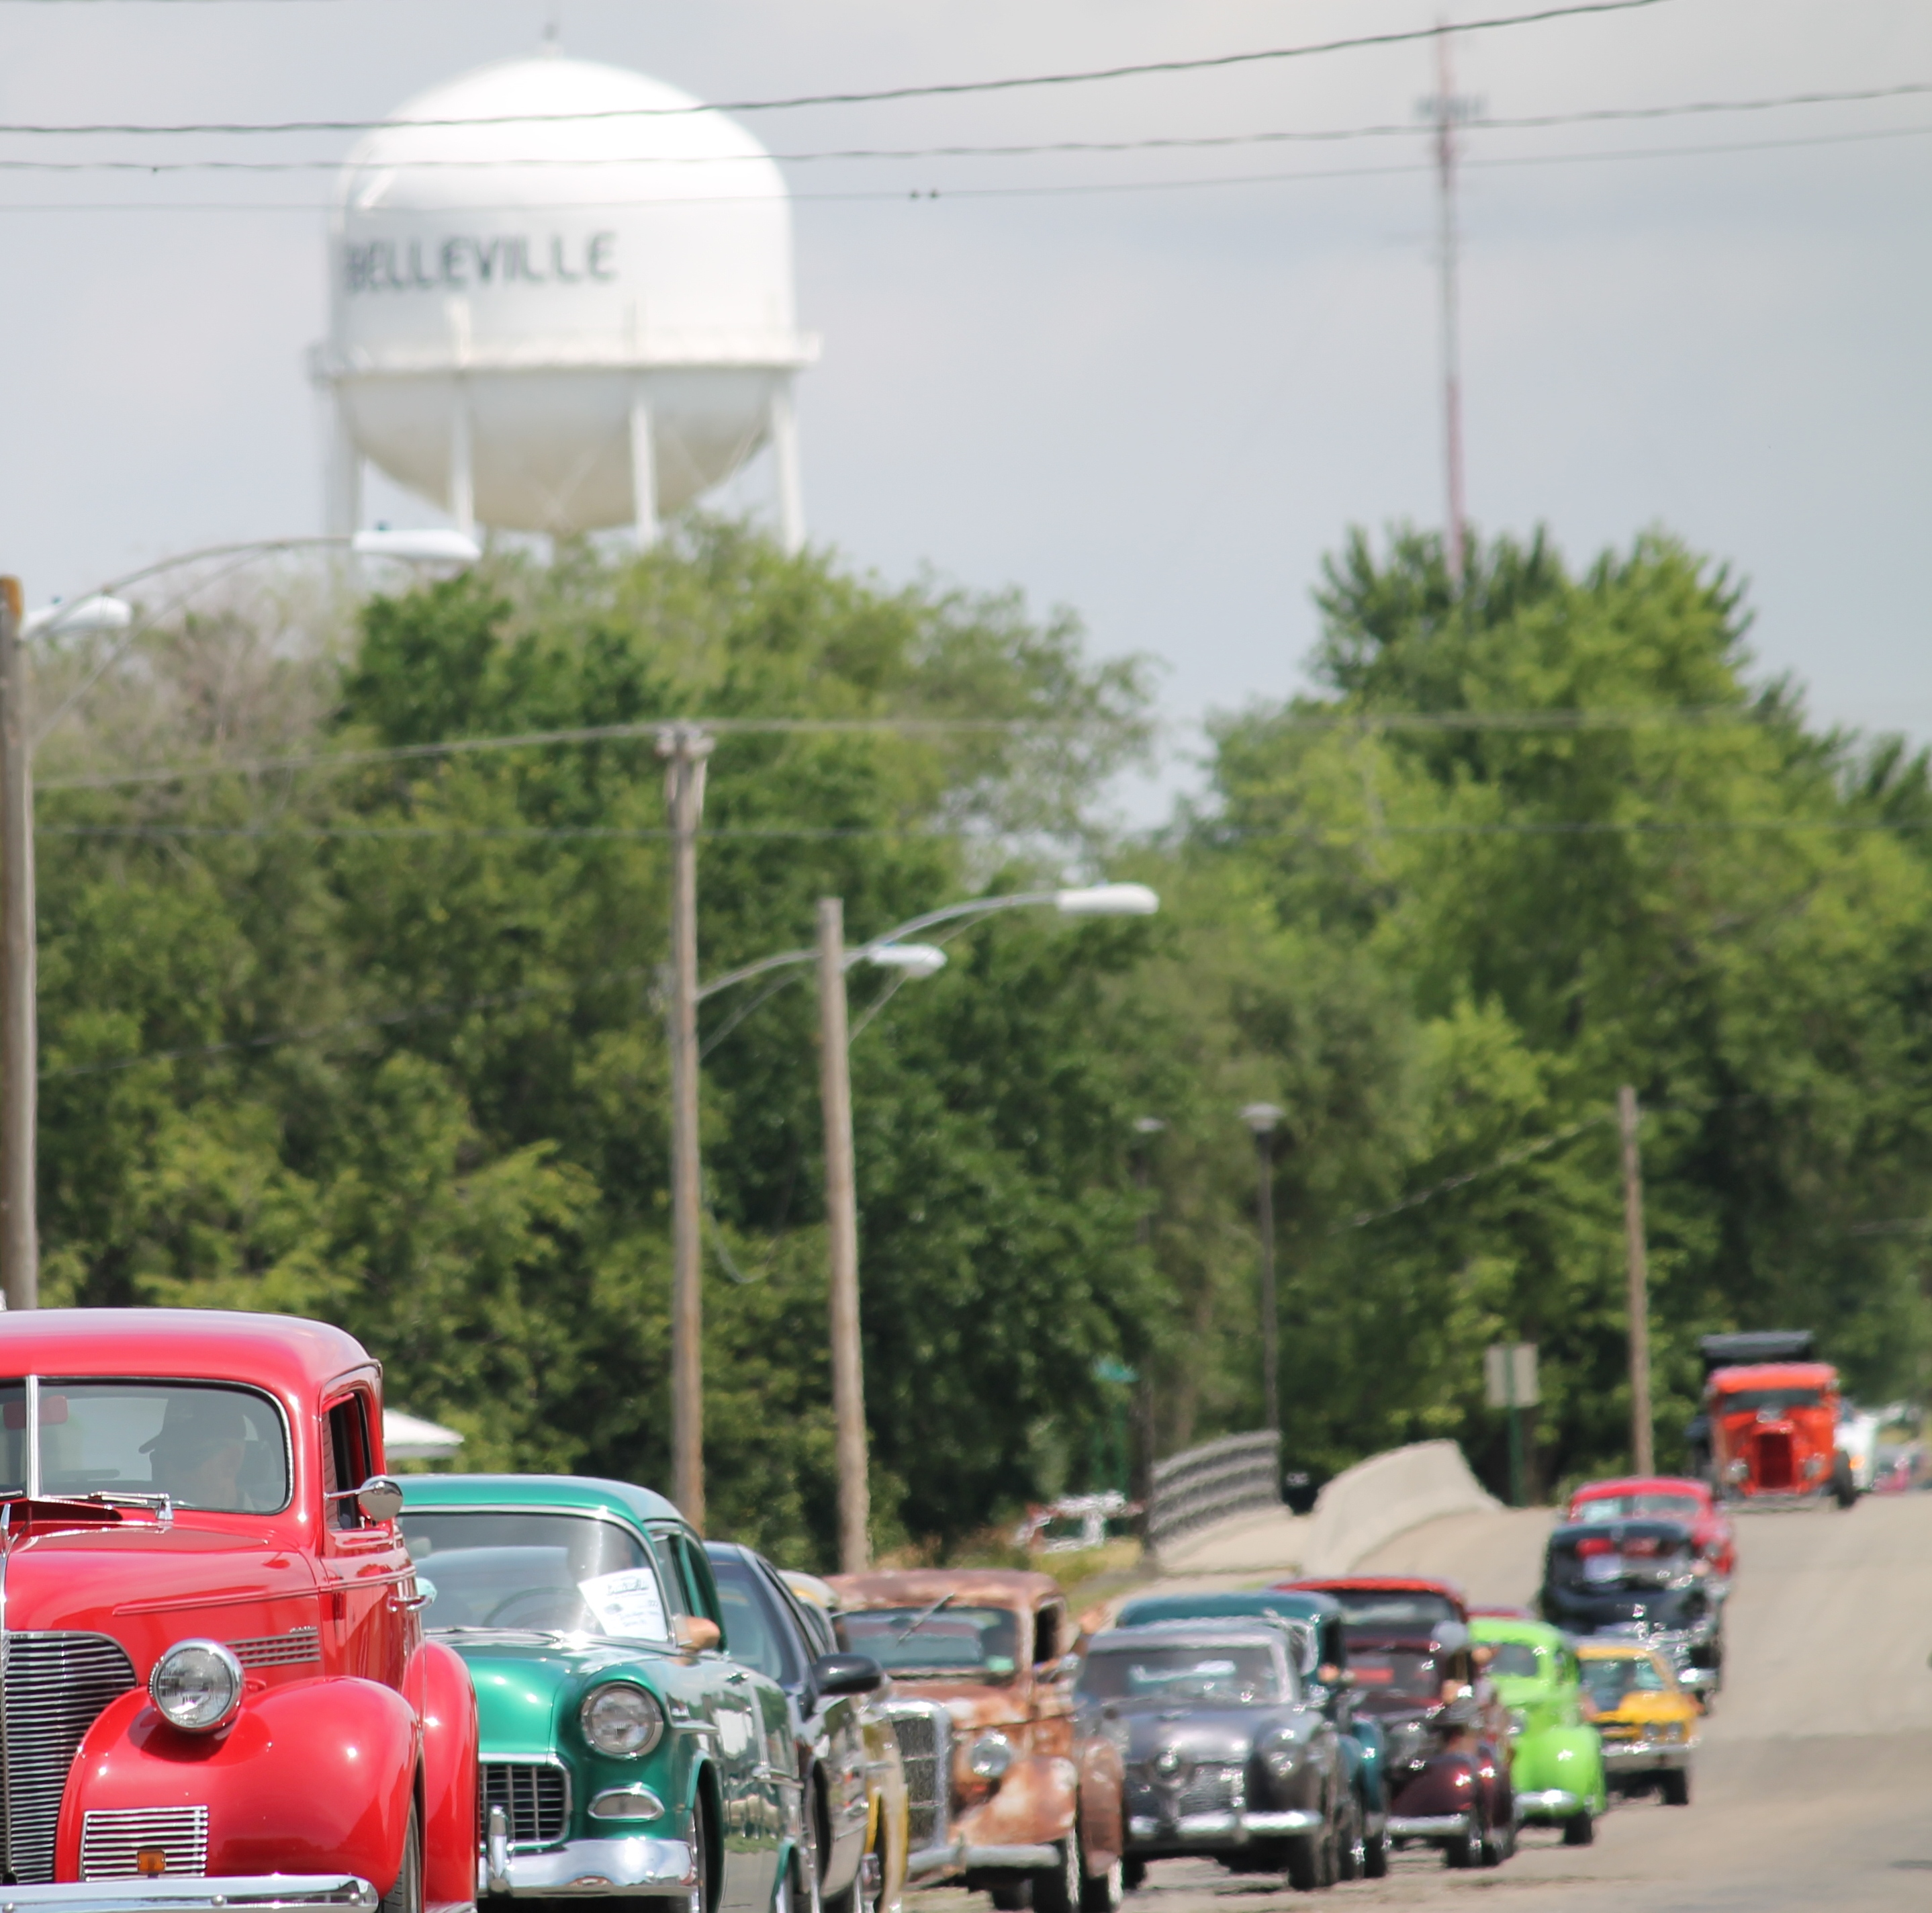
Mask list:
[{"label": "vertical-bar chrome front grille of the leftmost red car", "polygon": [[[6,1828],[14,1878],[54,1878],[54,1832],[68,1768],[110,1700],[135,1685],[106,1635],[6,1635],[0,1729],[6,1733]],[[170,1863],[172,1870],[172,1863]]]}]

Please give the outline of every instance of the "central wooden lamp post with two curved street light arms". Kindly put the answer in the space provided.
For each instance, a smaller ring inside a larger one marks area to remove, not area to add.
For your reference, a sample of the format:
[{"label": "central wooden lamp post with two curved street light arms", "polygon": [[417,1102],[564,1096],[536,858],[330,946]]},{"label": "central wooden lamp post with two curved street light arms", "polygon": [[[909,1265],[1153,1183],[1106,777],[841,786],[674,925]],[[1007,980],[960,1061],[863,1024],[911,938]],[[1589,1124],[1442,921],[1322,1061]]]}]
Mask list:
[{"label": "central wooden lamp post with two curved street light arms", "polygon": [[[939,924],[978,920],[1001,910],[1055,908],[1061,916],[1151,916],[1161,900],[1144,883],[1097,883],[1082,889],[1016,891],[1010,897],[976,897],[970,902],[927,910],[895,926],[869,943],[848,949],[844,941],[844,902],[819,899],[817,943],[810,951],[781,951],[715,978],[697,991],[697,1001],[713,997],[753,976],[790,964],[817,964],[819,970],[819,1096],[825,1111],[825,1231],[829,1248],[829,1314],[833,1355],[833,1428],[838,1465],[838,1569],[864,1573],[871,1561],[871,1486],[866,1457],[866,1374],[860,1345],[858,1308],[858,1192],[852,1165],[852,1061],[846,1034],[846,972],[854,964],[877,964],[908,978],[933,976],[945,966],[945,951],[906,937]],[[680,1407],[690,1414],[678,1436],[701,1443],[701,1407]]]}]

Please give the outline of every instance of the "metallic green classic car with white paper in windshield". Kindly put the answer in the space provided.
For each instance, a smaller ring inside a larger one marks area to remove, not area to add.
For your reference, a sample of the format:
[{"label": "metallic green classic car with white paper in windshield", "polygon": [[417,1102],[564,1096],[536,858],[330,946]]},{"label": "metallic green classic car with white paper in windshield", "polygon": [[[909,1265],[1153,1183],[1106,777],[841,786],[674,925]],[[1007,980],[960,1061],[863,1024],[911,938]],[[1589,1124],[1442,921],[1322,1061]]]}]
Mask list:
[{"label": "metallic green classic car with white paper in windshield", "polygon": [[423,1625],[475,1681],[479,1898],[811,1903],[784,1693],[726,1658],[703,1544],[667,1499],[425,1474],[402,1532]]}]

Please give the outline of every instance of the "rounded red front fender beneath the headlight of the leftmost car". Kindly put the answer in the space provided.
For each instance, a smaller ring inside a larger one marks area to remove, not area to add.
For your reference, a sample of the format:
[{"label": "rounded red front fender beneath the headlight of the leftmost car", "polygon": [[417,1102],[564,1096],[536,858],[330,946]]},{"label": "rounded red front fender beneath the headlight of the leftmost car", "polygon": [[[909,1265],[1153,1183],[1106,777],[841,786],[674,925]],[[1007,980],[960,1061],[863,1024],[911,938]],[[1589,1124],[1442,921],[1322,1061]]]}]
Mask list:
[{"label": "rounded red front fender beneath the headlight of the leftmost car", "polygon": [[87,1813],[209,1809],[209,1878],[354,1872],[396,1884],[421,1751],[408,1700],[346,1675],[249,1695],[220,1733],[182,1733],[145,1693],[93,1724],[68,1772],[54,1878],[81,1876]]}]

